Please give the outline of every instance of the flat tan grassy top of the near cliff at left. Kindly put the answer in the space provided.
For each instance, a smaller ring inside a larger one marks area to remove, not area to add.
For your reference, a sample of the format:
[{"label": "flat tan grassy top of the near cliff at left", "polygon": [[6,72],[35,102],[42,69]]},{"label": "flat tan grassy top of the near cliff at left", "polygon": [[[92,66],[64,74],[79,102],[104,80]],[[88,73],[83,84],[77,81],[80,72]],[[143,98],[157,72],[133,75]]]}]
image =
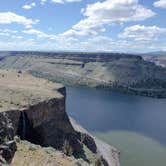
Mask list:
[{"label": "flat tan grassy top of the near cliff at left", "polygon": [[0,112],[26,108],[51,98],[62,98],[57,91],[62,87],[61,84],[21,71],[0,70]]}]

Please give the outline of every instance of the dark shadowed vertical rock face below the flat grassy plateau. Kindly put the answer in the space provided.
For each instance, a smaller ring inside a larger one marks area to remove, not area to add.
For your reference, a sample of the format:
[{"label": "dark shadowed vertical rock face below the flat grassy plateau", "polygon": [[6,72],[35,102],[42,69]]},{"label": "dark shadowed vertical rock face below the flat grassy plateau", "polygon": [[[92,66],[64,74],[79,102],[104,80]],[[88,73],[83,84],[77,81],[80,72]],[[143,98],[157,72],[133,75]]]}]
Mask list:
[{"label": "dark shadowed vertical rock face below the flat grassy plateau", "polygon": [[79,135],[65,112],[65,98],[43,101],[21,111],[6,112],[14,126],[15,135],[42,146],[63,150],[65,141],[76,157],[83,155]]}]

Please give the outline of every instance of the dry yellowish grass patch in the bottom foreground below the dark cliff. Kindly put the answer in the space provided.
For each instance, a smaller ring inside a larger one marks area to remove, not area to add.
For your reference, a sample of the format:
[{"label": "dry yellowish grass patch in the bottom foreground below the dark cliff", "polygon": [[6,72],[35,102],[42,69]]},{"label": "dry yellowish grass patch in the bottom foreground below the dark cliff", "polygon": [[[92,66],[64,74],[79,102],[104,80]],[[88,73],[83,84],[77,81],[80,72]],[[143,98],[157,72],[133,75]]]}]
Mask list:
[{"label": "dry yellowish grass patch in the bottom foreground below the dark cliff", "polygon": [[11,166],[74,166],[75,161],[64,154],[49,153],[44,148],[30,148],[26,143],[17,143],[17,151]]}]

